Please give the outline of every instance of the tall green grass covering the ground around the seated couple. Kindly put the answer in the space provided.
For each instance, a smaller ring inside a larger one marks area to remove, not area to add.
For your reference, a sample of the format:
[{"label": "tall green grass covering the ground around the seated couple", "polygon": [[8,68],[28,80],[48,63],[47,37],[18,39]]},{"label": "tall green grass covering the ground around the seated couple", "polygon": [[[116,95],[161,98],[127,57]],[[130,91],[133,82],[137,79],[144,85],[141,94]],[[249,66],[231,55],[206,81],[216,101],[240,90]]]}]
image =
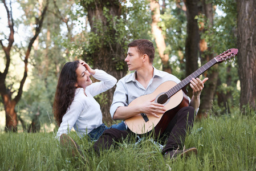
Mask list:
[{"label": "tall green grass covering the ground around the seated couple", "polygon": [[[140,144],[124,141],[99,156],[84,153],[69,157],[55,139],[56,133],[2,133],[0,170],[256,170],[256,115],[209,117],[194,124],[185,147],[195,146],[197,156],[168,160],[150,139]],[[89,149],[92,143],[71,137]]]}]

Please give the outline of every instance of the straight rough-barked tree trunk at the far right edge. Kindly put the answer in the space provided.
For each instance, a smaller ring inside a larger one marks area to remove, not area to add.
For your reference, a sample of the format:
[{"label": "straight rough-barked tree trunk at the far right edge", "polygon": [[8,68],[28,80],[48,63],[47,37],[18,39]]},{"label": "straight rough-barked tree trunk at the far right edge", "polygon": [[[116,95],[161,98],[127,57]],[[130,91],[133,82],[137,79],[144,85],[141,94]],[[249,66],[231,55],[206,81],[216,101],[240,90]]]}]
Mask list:
[{"label": "straight rough-barked tree trunk at the far right edge", "polygon": [[256,109],[256,1],[237,0],[238,75],[240,108]]}]

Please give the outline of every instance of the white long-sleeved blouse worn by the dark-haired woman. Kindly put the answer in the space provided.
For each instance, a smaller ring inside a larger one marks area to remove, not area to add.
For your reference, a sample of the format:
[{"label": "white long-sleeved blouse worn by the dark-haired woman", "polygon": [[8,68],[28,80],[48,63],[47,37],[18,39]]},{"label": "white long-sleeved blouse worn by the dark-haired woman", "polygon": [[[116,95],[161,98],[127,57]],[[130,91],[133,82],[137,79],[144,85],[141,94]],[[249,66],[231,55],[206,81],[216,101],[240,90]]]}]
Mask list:
[{"label": "white long-sleeved blouse worn by the dark-haired woman", "polygon": [[94,96],[115,86],[117,80],[102,70],[96,69],[95,71],[94,78],[101,82],[92,83],[86,87],[87,96],[83,88],[76,89],[74,101],[62,117],[56,138],[59,139],[62,133],[70,132],[73,127],[79,137],[83,137],[102,124],[100,105]]}]

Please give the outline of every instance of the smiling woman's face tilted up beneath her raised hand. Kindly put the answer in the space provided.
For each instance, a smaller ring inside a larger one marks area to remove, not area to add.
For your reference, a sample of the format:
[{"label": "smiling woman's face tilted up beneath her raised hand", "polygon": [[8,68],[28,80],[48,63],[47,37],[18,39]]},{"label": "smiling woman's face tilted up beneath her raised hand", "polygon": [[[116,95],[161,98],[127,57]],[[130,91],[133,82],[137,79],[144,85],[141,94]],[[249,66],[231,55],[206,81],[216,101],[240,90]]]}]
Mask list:
[{"label": "smiling woman's face tilted up beneath her raised hand", "polygon": [[75,86],[77,88],[86,89],[87,86],[90,86],[92,84],[92,80],[90,79],[91,74],[86,70],[86,67],[82,66],[82,64],[80,63],[78,68],[76,69],[76,75],[77,75],[77,82]]}]

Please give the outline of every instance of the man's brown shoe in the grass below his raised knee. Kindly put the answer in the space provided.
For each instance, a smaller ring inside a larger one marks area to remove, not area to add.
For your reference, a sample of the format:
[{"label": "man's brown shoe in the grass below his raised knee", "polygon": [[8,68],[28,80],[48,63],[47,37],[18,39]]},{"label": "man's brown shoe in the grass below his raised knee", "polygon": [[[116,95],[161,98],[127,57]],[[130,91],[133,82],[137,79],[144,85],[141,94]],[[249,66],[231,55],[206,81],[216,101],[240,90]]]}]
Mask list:
[{"label": "man's brown shoe in the grass below his raised knee", "polygon": [[184,150],[171,150],[165,153],[164,157],[169,157],[170,159],[180,157],[189,157],[192,153],[197,154],[197,149],[192,147]]}]

